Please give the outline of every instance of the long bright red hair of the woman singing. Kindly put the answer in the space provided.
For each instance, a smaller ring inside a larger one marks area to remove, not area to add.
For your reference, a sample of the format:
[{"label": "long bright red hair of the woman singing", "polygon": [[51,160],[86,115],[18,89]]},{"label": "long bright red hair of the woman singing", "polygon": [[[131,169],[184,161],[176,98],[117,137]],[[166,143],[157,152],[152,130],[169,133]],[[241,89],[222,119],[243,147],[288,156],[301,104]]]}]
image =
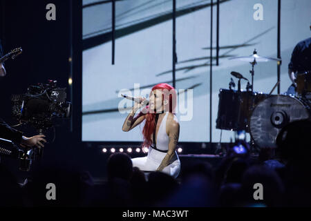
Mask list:
[{"label": "long bright red hair of the woman singing", "polygon": [[[175,113],[176,103],[177,103],[176,101],[177,94],[176,94],[175,88],[173,88],[173,86],[169,84],[162,83],[162,84],[157,84],[156,86],[153,86],[153,88],[151,89],[151,92],[157,89],[162,90],[162,102],[164,101],[164,99],[169,100],[169,103],[165,105],[165,106],[169,106],[169,108],[165,108],[165,109],[169,110],[169,113]],[[150,96],[151,96],[151,93],[150,93]],[[155,111],[150,110],[149,106],[146,106],[142,112],[146,113],[146,116],[145,116],[146,121],[144,124],[144,128],[142,130],[142,135],[144,136],[144,142],[142,143],[142,148],[144,148],[144,147],[149,147],[153,143],[151,141],[151,134],[156,128],[156,113]]]}]

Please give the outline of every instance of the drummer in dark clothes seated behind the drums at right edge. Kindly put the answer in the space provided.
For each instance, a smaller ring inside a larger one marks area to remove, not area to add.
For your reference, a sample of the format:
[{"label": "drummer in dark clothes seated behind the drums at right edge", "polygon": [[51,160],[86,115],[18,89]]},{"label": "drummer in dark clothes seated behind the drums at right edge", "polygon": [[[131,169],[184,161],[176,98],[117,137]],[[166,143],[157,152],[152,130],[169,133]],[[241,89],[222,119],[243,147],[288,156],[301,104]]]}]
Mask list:
[{"label": "drummer in dark clothes seated behind the drums at right edge", "polygon": [[308,72],[308,75],[311,75],[311,37],[296,44],[292,52],[290,64],[288,64],[288,75],[292,81],[292,85],[288,88],[285,95],[295,95],[296,73],[305,72]]}]

